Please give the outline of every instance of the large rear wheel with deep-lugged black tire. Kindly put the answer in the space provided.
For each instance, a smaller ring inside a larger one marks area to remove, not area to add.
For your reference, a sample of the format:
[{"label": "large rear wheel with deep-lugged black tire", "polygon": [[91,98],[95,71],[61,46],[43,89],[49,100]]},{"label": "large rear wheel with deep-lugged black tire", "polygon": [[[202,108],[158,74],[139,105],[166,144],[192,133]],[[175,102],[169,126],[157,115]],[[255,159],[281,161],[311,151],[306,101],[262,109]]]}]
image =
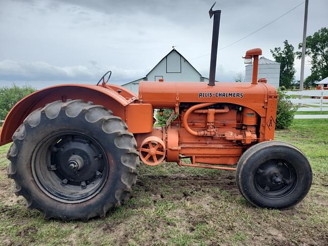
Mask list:
[{"label": "large rear wheel with deep-lugged black tire", "polygon": [[8,176],[15,194],[46,218],[104,217],[136,181],[136,141],[103,106],[54,101],[32,112],[12,139]]}]

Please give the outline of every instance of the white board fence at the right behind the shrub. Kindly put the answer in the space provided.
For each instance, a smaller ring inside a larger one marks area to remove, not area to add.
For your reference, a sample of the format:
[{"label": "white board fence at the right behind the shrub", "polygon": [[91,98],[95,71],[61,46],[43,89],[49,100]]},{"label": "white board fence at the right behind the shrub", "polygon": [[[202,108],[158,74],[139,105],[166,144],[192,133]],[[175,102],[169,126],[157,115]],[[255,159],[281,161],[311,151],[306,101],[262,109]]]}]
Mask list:
[{"label": "white board fence at the right behind the shrub", "polygon": [[[328,111],[328,90],[306,90],[306,91],[288,91],[287,95],[292,96],[291,101],[294,105],[301,105],[297,111]],[[306,98],[299,99],[299,95]],[[314,97],[314,98],[309,98]],[[328,114],[304,114],[295,115],[295,119],[327,119]]]}]

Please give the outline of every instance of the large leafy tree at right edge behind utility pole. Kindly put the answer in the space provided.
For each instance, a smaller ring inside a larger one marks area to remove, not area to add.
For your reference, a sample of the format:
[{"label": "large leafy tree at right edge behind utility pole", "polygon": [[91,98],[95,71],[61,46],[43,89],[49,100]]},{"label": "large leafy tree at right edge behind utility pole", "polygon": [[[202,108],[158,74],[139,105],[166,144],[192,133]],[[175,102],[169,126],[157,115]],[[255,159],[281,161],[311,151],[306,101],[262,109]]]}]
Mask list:
[{"label": "large leafy tree at right edge behind utility pole", "polygon": [[[302,48],[302,43],[298,45]],[[302,52],[298,51],[297,56],[301,58]],[[313,34],[306,37],[305,55],[310,57],[311,75],[304,81],[313,86],[317,80],[328,77],[328,28],[323,27]]]}]

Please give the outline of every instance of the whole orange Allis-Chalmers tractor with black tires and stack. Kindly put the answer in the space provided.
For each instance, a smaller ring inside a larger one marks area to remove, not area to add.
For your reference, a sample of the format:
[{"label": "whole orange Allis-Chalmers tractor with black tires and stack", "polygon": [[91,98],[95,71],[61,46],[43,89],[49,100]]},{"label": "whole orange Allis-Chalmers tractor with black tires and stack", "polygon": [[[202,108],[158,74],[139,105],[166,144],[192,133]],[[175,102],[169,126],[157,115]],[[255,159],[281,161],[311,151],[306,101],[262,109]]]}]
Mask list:
[{"label": "whole orange Allis-Chalmers tractor with black tires and stack", "polygon": [[[47,218],[103,217],[131,191],[139,158],[236,171],[240,193],[257,207],[289,208],[305,197],[311,166],[296,147],[273,140],[278,95],[257,81],[261,49],[244,57],[254,64],[251,83],[215,83],[220,12],[210,10],[209,84],[142,81],[136,95],[105,74],[97,85],[36,91],[12,108],[0,144],[13,141],[8,176],[28,208]],[[173,110],[165,127],[153,128],[154,109]]]}]

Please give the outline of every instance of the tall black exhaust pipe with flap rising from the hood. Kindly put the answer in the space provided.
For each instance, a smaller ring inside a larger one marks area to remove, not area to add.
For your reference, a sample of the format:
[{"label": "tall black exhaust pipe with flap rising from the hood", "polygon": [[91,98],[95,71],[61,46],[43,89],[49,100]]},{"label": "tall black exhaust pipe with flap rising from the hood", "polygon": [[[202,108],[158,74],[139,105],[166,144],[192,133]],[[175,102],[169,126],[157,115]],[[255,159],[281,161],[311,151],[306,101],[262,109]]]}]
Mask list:
[{"label": "tall black exhaust pipe with flap rising from the hood", "polygon": [[209,79],[209,86],[215,86],[215,70],[216,70],[216,57],[217,57],[217,46],[219,40],[219,28],[220,28],[220,16],[221,10],[213,11],[213,7],[216,4],[212,5],[209,14],[210,18],[214,15],[213,20],[213,34],[212,34],[212,49],[211,49],[211,64],[210,64],[210,79]]}]

